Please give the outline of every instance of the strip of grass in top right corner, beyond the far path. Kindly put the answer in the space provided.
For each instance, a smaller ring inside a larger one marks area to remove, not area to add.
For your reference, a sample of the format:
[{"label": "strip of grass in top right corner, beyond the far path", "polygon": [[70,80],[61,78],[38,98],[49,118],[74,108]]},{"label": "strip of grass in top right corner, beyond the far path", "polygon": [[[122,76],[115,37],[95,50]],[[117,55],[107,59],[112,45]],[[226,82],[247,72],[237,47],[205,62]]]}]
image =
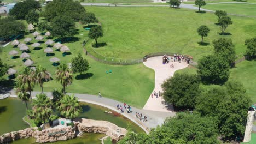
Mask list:
[{"label": "strip of grass in top right corner, beyond the far path", "polygon": [[202,8],[210,10],[225,10],[230,14],[256,16],[256,4],[208,4]]}]

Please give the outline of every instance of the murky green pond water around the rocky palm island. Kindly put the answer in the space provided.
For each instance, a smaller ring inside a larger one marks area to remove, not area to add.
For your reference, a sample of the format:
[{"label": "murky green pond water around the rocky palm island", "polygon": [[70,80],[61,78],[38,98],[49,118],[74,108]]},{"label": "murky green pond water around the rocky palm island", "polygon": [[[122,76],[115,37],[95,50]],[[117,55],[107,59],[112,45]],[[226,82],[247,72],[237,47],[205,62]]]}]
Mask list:
[{"label": "murky green pond water around the rocky palm island", "polygon": [[[113,113],[108,114],[105,111],[111,111],[105,107],[99,105],[93,105],[88,103],[80,103],[83,107],[83,112],[78,116],[79,118],[89,118],[95,120],[103,120],[114,123],[122,128],[130,128],[135,133],[144,133],[144,131],[138,127],[135,123],[123,116],[116,116]],[[22,117],[26,115],[26,106],[17,98],[7,98],[0,100],[0,135],[8,133],[10,131],[18,131],[28,128],[29,126],[22,121]],[[102,134],[85,134],[81,138],[72,139],[68,141],[58,141],[54,143],[101,143],[99,138],[103,137]],[[34,139],[21,139],[13,143],[34,143]]]}]

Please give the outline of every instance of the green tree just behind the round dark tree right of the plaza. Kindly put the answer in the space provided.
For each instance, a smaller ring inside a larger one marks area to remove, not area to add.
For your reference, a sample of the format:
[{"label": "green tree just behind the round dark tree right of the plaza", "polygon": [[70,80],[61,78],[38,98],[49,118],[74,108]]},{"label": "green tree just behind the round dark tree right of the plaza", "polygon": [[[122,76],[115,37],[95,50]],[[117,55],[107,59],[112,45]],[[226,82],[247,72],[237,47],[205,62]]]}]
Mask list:
[{"label": "green tree just behind the round dark tree right of the plaza", "polygon": [[216,55],[223,57],[229,63],[230,67],[235,66],[236,51],[231,39],[219,38],[213,40],[213,47]]}]

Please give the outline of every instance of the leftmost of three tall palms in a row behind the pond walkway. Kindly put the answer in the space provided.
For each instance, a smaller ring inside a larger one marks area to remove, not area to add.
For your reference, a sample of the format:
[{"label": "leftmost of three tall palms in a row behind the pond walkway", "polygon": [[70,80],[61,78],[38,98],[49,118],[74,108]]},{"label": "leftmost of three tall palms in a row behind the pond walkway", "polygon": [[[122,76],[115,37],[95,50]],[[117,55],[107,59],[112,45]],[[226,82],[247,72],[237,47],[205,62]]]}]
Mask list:
[{"label": "leftmost of three tall palms in a row behind the pond walkway", "polygon": [[27,92],[30,93],[30,98],[32,99],[31,91],[34,88],[34,82],[36,81],[34,77],[34,71],[28,67],[24,68],[21,75],[17,77],[18,87],[23,87]]}]

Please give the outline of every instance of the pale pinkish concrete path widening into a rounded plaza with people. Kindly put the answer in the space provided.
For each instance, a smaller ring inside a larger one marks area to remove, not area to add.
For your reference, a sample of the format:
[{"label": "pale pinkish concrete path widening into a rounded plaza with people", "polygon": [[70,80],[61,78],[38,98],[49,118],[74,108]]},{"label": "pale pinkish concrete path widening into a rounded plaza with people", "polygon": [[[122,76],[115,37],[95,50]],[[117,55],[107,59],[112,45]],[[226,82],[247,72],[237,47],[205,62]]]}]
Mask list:
[{"label": "pale pinkish concrete path widening into a rounded plaza with people", "polygon": [[[167,64],[162,64],[162,56],[148,58],[147,62],[143,62],[149,68],[154,69],[155,71],[155,88],[152,93],[162,92],[161,84],[172,77],[176,70],[184,69],[188,67],[189,64],[185,62],[170,62]],[[174,68],[171,68],[170,65],[173,64]],[[144,110],[151,111],[160,111],[160,112],[169,112],[174,113],[172,105],[165,104],[165,101],[162,97],[156,98],[153,94],[153,98],[149,95],[147,103],[143,107]]]}]

